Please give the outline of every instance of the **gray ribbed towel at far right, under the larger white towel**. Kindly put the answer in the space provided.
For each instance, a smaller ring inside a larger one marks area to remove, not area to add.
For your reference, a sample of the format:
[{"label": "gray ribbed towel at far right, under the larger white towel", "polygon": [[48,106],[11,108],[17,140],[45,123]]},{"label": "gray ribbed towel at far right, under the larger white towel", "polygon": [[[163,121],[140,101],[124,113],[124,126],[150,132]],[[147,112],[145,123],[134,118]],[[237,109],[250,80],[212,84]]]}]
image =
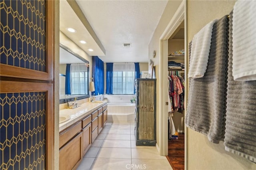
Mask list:
[{"label": "gray ribbed towel at far right, under the larger white towel", "polygon": [[256,81],[234,81],[232,76],[232,12],[229,19],[228,87],[224,145],[227,151],[256,162]]}]

